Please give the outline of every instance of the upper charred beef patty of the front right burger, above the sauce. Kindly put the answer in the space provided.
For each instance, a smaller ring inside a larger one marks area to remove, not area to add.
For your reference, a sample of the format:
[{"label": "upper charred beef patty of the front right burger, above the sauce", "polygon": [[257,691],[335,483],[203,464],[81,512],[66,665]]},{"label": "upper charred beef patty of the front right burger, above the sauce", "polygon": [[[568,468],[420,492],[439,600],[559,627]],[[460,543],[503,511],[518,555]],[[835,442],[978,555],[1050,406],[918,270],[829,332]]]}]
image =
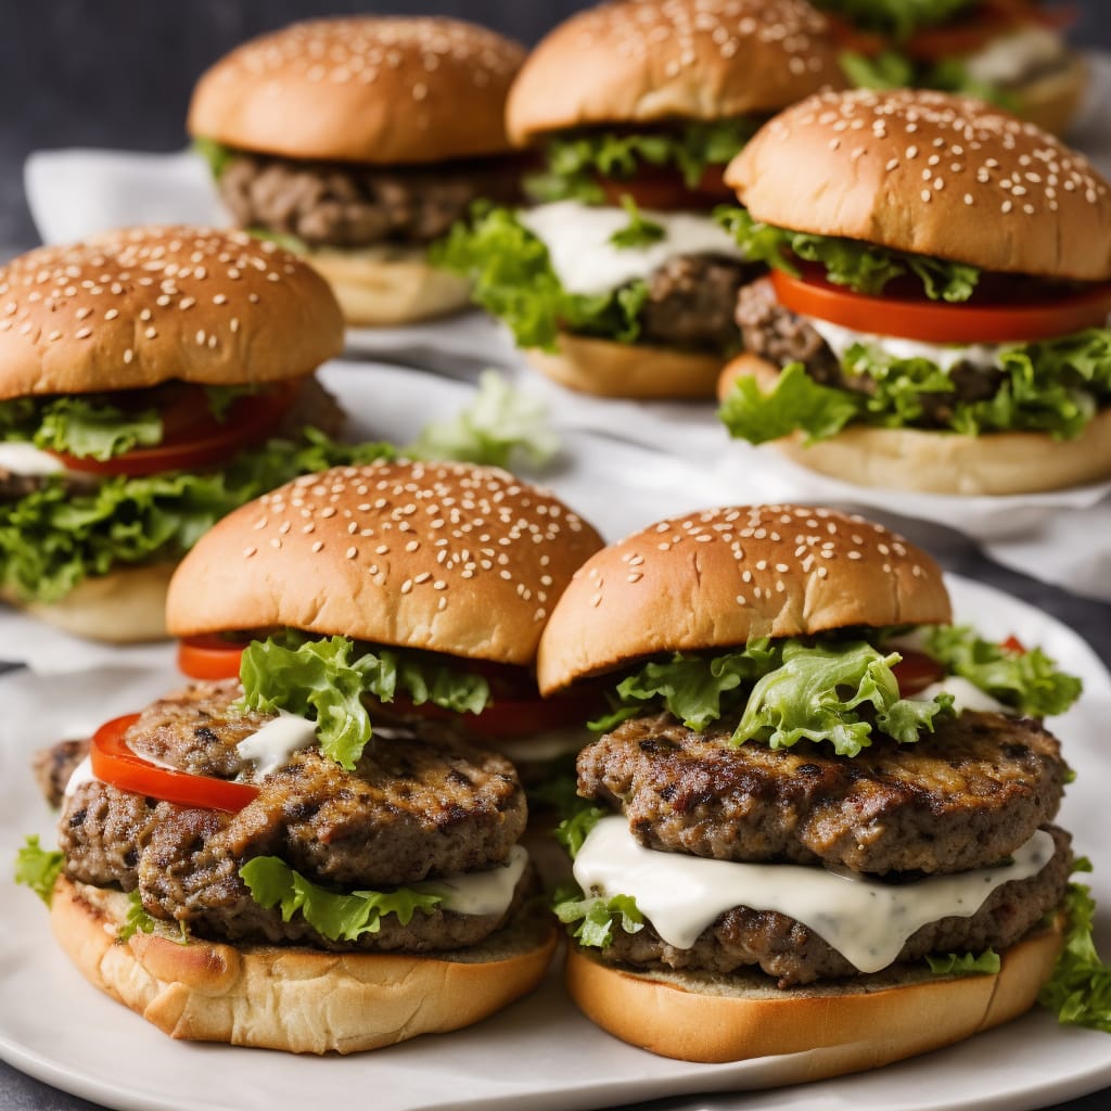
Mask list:
[{"label": "upper charred beef patty of the front right burger, above the sauce", "polygon": [[579,754],[579,793],[622,809],[650,849],[883,874],[993,864],[1063,791],[1057,739],[999,713],[941,719],[915,744],[875,735],[852,759],[809,742],[732,748],[731,732],[633,718]]}]

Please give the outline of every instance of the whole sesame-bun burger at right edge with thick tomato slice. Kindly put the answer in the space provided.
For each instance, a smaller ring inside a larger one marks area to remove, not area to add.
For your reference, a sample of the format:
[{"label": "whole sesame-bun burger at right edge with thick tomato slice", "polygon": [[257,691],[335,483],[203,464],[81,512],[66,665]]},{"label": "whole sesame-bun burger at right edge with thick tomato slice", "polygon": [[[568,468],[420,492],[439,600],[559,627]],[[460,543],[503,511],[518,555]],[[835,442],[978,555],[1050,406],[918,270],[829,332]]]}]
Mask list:
[{"label": "whole sesame-bun burger at right edge with thick tomato slice", "polygon": [[782,113],[727,179],[772,267],[738,298],[731,434],[902,490],[1111,474],[1111,194],[1082,156],[980,101],[855,91]]}]

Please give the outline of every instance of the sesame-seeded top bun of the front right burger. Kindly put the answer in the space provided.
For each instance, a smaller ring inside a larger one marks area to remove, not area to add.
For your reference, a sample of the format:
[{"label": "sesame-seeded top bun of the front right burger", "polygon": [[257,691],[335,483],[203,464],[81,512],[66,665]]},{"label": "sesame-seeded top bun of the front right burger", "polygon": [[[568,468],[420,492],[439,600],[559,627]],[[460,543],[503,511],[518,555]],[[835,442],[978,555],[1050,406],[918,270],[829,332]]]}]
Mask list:
[{"label": "sesame-seeded top bun of the front right burger", "polygon": [[659,652],[951,619],[938,564],[880,524],[804,506],[712,509],[588,560],[544,630],[537,674],[549,694]]}]

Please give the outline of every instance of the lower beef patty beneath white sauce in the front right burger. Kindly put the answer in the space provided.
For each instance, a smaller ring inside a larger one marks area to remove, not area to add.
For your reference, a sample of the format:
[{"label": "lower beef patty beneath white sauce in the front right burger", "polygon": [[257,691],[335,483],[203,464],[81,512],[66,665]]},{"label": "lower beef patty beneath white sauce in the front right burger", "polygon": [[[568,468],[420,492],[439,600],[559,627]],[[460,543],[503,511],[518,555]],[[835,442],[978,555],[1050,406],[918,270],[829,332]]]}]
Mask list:
[{"label": "lower beef patty beneath white sauce in the front right burger", "polygon": [[[921,960],[928,953],[980,953],[1002,950],[1028,933],[1042,915],[1059,905],[1072,869],[1070,837],[1049,827],[1055,852],[1050,862],[1027,880],[997,888],[969,918],[944,918],[915,931],[898,961]],[[645,922],[638,933],[613,931],[603,960],[635,968],[698,969],[728,974],[759,965],[777,978],[780,988],[858,975],[858,970],[813,930],[774,911],[735,907],[720,914],[690,949],[664,942]]]}]

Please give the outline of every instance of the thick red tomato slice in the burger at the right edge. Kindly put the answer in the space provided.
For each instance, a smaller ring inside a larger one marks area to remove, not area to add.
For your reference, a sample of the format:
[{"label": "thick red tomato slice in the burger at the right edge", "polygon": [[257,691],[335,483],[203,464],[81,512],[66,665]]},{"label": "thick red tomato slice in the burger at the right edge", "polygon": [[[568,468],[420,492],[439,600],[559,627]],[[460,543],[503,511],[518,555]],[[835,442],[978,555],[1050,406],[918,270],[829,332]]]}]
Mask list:
[{"label": "thick red tomato slice in the burger at the right edge", "polygon": [[947,304],[870,297],[817,278],[793,278],[773,270],[782,306],[805,317],[858,332],[894,336],[925,343],[1013,343],[1069,336],[1107,323],[1111,282],[1051,301],[1023,304]]}]

